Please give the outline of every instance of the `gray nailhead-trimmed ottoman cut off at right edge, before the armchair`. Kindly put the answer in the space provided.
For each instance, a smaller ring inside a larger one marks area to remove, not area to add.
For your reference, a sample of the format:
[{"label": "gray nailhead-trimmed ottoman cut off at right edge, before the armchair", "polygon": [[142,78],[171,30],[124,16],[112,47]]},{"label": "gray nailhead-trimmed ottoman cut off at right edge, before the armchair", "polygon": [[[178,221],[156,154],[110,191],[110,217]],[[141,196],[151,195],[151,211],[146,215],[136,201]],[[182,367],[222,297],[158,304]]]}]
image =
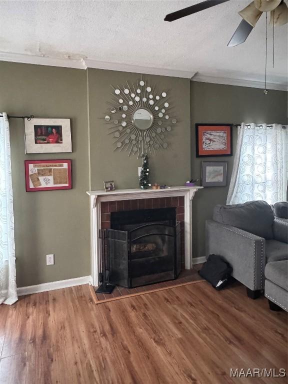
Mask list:
[{"label": "gray nailhead-trimmed ottoman cut off at right edge, before the armchair", "polygon": [[288,260],[268,262],[265,266],[265,296],[272,310],[288,311]]}]

